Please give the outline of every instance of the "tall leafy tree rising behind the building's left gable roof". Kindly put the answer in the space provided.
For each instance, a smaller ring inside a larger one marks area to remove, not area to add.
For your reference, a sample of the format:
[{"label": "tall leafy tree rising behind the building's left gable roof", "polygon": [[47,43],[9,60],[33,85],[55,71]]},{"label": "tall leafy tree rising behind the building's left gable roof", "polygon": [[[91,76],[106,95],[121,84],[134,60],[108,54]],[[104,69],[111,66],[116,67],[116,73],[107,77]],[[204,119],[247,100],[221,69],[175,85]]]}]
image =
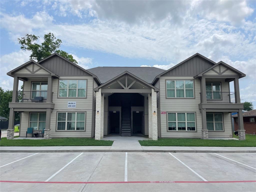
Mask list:
[{"label": "tall leafy tree rising behind the building's left gable roof", "polygon": [[57,50],[62,41],[60,39],[56,39],[54,34],[48,33],[44,35],[44,42],[42,42],[41,45],[36,43],[38,38],[40,37],[32,34],[26,34],[26,37],[18,38],[19,44],[21,45],[20,48],[25,51],[31,51],[30,59],[40,61],[54,52],[57,52],[62,57],[77,63],[71,54],[68,54],[66,51]]}]

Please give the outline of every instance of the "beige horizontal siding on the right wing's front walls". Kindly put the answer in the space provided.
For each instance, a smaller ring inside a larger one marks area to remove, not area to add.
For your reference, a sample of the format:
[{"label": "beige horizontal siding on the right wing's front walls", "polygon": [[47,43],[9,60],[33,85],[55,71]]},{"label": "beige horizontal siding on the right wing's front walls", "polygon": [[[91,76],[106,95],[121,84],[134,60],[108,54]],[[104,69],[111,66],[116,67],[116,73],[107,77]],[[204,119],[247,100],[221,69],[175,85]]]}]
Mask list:
[{"label": "beige horizontal siding on the right wing's front walls", "polygon": [[[187,137],[201,138],[202,119],[198,104],[200,103],[200,80],[194,79],[195,98],[166,98],[166,80],[192,80],[193,77],[160,77],[160,108],[166,112],[195,112],[196,113],[196,132],[189,131],[167,131],[167,114],[160,114],[161,118],[161,137]],[[229,84],[225,80],[209,80],[207,82],[221,82],[222,91],[229,91]],[[224,113],[224,129],[225,132],[209,132],[209,137],[229,137],[231,131],[230,113]]]}]

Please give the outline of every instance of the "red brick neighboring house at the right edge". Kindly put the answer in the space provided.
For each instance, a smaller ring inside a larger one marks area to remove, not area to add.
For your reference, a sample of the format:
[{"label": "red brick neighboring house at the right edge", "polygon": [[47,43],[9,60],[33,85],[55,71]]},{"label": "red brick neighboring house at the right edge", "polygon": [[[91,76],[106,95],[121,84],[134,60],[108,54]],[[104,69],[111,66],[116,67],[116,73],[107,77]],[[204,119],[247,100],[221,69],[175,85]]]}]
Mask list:
[{"label": "red brick neighboring house at the right edge", "polygon": [[[234,128],[237,131],[239,129],[237,114],[232,115],[232,118],[234,118]],[[256,109],[243,113],[243,126],[246,130],[245,133],[256,133]]]}]

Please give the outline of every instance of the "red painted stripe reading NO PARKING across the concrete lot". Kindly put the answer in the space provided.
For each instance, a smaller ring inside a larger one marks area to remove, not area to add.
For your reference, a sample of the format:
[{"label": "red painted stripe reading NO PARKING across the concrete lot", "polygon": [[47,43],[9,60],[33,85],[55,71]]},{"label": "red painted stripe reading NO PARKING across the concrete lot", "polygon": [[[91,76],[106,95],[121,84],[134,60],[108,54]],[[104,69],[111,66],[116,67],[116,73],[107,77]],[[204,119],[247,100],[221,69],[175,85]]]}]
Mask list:
[{"label": "red painted stripe reading NO PARKING across the concrete lot", "polygon": [[0,181],[2,183],[59,183],[59,184],[114,184],[114,183],[255,183],[251,181],[96,181],[96,182],[69,182],[69,181]]}]

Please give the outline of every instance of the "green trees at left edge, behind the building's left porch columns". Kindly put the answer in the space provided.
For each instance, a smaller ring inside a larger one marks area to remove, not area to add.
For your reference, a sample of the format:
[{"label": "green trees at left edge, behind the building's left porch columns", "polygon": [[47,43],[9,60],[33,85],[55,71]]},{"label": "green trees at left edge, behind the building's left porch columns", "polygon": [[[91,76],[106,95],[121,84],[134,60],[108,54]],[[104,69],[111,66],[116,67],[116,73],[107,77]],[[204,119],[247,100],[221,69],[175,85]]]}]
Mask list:
[{"label": "green trees at left edge, behind the building's left porch columns", "polygon": [[[10,91],[10,90],[4,91],[0,87],[0,115],[2,117],[9,119],[9,113],[10,113],[9,102],[12,102],[12,97],[13,97],[13,91]],[[15,121],[19,121],[19,119],[20,119],[19,113],[15,112]]]}]

